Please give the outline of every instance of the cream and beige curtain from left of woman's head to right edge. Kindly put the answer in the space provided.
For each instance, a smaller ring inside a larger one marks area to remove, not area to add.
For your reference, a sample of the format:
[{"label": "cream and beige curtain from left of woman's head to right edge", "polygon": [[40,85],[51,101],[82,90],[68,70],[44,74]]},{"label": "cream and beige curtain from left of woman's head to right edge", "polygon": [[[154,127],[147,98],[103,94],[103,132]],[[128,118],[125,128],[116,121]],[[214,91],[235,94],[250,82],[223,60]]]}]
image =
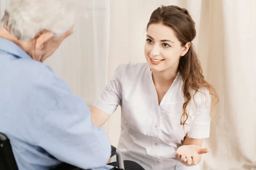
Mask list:
[{"label": "cream and beige curtain from left of woman's head to right edge", "polygon": [[[211,152],[203,156],[201,170],[256,170],[256,1],[111,0],[109,79],[119,63],[145,61],[145,27],[161,4],[192,14],[195,48],[220,98],[205,141]],[[106,131],[116,146],[120,108]]]}]

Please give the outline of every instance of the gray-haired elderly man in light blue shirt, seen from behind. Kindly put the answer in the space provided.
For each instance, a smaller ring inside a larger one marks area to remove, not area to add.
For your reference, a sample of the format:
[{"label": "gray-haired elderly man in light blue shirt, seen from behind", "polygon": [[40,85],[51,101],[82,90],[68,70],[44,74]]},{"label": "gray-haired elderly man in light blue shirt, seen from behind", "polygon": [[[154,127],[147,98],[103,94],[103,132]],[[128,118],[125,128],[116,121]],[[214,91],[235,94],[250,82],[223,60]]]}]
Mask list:
[{"label": "gray-haired elderly man in light blue shirt, seen from behind", "polygon": [[73,31],[77,0],[9,0],[0,29],[0,132],[19,170],[66,162],[84,169],[108,162],[108,136],[83,99],[42,63]]}]

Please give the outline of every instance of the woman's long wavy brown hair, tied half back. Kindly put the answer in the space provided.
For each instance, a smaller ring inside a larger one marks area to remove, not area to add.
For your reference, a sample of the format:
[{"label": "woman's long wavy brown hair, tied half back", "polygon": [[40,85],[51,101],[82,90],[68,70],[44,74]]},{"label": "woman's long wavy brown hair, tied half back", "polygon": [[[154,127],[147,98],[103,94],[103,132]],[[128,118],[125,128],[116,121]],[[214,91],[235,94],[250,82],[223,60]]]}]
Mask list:
[{"label": "woman's long wavy brown hair, tied half back", "polygon": [[[185,8],[178,6],[160,6],[151,14],[147,29],[151,24],[157,23],[172,28],[182,46],[185,46],[187,42],[191,43],[188,52],[180,57],[178,66],[178,71],[183,79],[182,91],[185,102],[183,103],[183,114],[180,118],[180,124],[184,127],[186,120],[189,118],[186,108],[191,99],[193,98],[194,100],[197,92],[204,93],[204,90],[209,91],[214,105],[218,102],[218,94],[213,86],[204,79],[201,64],[192,44],[196,30],[195,22],[192,20],[189,12]],[[206,94],[204,95],[206,96]]]}]

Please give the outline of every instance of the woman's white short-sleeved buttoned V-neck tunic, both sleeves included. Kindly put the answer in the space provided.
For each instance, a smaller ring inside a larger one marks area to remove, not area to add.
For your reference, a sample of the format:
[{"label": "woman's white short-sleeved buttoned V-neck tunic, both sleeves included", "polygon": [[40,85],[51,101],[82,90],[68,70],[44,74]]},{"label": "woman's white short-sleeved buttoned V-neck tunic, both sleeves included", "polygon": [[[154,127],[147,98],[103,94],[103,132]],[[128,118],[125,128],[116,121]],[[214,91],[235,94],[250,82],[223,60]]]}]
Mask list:
[{"label": "woman's white short-sleeved buttoned V-neck tunic, both sleeves included", "polygon": [[179,74],[158,105],[152,73],[147,63],[121,64],[95,107],[112,114],[121,106],[121,134],[118,148],[124,159],[139,163],[145,170],[198,170],[175,158],[185,134],[195,139],[209,137],[209,92],[197,93],[189,103],[189,119],[180,125],[184,103],[183,80]]}]

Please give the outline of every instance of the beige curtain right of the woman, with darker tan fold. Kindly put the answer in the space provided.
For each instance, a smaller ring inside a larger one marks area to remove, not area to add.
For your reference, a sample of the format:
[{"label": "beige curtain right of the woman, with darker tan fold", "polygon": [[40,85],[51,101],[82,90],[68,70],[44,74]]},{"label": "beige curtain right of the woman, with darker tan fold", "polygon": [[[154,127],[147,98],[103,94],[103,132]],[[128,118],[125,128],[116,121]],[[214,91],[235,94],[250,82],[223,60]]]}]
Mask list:
[{"label": "beige curtain right of the woman, with darker tan fold", "polygon": [[204,170],[256,170],[256,1],[210,2],[207,79],[220,102]]}]

